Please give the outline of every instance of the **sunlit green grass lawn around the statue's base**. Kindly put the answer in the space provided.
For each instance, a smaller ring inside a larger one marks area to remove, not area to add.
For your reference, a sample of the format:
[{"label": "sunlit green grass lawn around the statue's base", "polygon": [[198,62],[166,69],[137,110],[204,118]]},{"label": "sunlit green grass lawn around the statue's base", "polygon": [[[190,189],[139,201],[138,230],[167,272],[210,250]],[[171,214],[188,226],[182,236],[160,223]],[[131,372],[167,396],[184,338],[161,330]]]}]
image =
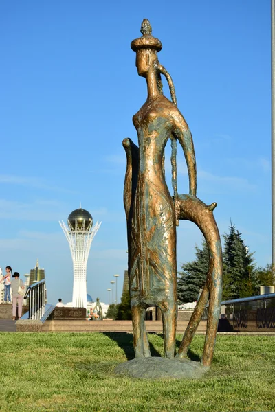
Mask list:
[{"label": "sunlit green grass lawn around the statue's base", "polygon": [[[153,355],[163,355],[162,337],[149,341]],[[202,348],[195,336],[191,358]],[[1,333],[0,411],[275,410],[274,336],[218,336],[201,380],[113,376],[127,358],[131,334]]]}]

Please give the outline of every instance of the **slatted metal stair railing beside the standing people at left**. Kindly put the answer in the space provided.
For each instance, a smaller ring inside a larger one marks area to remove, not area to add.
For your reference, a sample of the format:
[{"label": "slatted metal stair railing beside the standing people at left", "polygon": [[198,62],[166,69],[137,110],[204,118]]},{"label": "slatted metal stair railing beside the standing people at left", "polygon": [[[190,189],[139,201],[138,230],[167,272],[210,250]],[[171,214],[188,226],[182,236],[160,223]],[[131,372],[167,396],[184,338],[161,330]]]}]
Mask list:
[{"label": "slatted metal stair railing beside the standing people at left", "polygon": [[24,299],[29,299],[28,319],[40,320],[45,314],[46,282],[45,279],[28,287]]}]

